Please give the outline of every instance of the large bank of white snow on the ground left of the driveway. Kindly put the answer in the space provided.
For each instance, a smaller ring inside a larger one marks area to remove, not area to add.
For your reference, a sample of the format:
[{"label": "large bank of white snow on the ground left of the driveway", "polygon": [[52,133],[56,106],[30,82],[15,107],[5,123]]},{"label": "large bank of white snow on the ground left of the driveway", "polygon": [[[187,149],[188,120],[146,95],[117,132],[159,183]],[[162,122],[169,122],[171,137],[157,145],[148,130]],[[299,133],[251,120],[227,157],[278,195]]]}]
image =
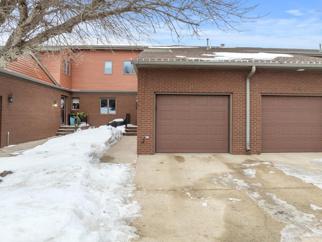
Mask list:
[{"label": "large bank of white snow on the ground left of the driveway", "polygon": [[131,164],[100,163],[122,136],[102,126],[0,158],[0,241],[130,241],[140,217]]}]

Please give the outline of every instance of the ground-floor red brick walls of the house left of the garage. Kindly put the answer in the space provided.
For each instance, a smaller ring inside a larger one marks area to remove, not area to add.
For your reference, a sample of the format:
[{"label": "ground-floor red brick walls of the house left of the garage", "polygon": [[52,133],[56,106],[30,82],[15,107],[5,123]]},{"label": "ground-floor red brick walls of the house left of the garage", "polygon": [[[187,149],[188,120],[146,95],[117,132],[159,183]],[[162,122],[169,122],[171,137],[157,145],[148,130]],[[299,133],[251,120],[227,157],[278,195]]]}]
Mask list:
[{"label": "ground-floor red brick walls of the house left of the garage", "polygon": [[[55,86],[0,75],[0,148],[55,136],[60,127],[60,98],[65,97],[66,125],[69,124],[72,97],[79,98],[79,110],[89,114],[90,126],[108,125],[115,118],[130,113],[130,123],[136,125],[136,92],[131,93],[72,93]],[[8,100],[12,93],[14,101]],[[116,113],[100,114],[100,99],[115,98]],[[56,100],[57,107],[53,103]]]}]

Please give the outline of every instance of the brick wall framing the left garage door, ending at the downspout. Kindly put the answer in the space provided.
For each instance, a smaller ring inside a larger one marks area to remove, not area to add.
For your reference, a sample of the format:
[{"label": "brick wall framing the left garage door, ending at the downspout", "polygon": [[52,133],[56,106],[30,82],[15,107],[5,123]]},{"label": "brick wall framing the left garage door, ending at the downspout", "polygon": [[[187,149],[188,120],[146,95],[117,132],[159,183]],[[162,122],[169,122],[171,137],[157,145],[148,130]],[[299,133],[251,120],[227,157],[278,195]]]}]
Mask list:
[{"label": "brick wall framing the left garage door, ending at the downspout", "polygon": [[[137,153],[154,152],[154,93],[227,93],[232,94],[232,153],[245,150],[246,76],[250,69],[139,69]],[[231,100],[230,100],[231,101]],[[141,139],[149,136],[141,143]],[[243,148],[242,148],[243,147]]]}]

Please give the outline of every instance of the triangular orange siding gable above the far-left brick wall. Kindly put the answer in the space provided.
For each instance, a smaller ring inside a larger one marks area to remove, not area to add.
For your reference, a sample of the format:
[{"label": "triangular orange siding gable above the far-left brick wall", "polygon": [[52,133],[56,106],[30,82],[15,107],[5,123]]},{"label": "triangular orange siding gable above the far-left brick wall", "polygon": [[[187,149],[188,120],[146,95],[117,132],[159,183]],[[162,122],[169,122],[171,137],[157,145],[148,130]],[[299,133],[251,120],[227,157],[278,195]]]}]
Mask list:
[{"label": "triangular orange siding gable above the far-left brick wall", "polygon": [[5,70],[53,84],[52,80],[31,56],[20,56],[17,62],[10,63]]}]

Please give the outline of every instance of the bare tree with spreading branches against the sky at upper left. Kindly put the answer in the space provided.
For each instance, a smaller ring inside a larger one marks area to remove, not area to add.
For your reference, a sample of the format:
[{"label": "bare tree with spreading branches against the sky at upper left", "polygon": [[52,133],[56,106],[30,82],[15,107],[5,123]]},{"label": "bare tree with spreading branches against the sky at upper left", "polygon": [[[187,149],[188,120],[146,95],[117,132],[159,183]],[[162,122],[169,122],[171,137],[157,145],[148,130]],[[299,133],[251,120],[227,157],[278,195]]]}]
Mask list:
[{"label": "bare tree with spreading branches against the sky at upper left", "polygon": [[257,6],[247,0],[0,0],[0,68],[41,45],[90,44],[151,40],[166,29],[180,41],[211,23],[236,30]]}]

